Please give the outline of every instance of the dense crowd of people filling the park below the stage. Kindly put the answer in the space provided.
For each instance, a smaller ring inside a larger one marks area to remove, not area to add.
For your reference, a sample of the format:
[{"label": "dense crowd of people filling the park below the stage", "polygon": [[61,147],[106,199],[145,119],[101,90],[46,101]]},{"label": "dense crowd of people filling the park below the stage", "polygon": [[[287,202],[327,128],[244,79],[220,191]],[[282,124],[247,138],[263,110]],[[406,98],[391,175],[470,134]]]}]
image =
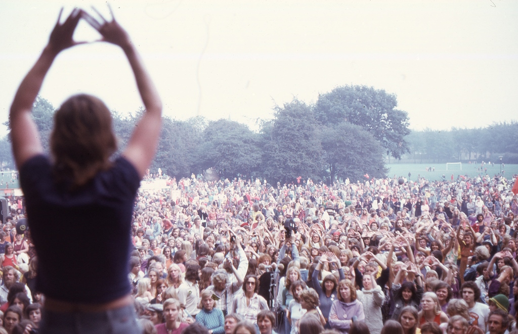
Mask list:
[{"label": "dense crowd of people filling the park below the stage", "polygon": [[[139,191],[128,236],[147,333],[518,332],[512,179],[155,177],[168,188]],[[23,198],[8,200],[0,333],[28,333],[45,296]]]}]

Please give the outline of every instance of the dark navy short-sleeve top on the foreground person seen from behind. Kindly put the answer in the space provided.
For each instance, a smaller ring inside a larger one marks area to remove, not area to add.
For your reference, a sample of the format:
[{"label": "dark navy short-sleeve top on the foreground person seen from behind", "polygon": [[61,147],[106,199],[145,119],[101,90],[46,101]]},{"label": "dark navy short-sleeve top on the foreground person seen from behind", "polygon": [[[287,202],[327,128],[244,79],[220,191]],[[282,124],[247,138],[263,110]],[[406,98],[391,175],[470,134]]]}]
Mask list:
[{"label": "dark navy short-sleeve top on the foreground person seen from behind", "polygon": [[80,190],[57,186],[48,157],[20,169],[38,255],[36,290],[57,300],[104,303],[131,292],[131,217],[140,178],[118,158]]}]

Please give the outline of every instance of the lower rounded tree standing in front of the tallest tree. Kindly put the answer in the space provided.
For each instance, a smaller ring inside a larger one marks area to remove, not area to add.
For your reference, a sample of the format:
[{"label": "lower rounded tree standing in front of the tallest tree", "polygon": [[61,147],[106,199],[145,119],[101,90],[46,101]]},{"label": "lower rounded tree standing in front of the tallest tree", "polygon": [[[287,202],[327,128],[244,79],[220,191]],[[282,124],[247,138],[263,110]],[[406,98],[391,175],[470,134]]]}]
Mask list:
[{"label": "lower rounded tree standing in front of the tallest tree", "polygon": [[386,177],[383,148],[372,134],[362,127],[342,122],[322,131],[322,148],[326,178],[333,183],[336,178],[352,181],[370,177]]}]

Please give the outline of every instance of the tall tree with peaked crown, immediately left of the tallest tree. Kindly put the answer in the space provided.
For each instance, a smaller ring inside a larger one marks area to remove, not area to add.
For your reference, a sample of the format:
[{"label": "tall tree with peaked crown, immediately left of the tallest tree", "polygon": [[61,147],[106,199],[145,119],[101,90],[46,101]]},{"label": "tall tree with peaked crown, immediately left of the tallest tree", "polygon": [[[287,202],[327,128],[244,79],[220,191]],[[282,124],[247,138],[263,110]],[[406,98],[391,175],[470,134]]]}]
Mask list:
[{"label": "tall tree with peaked crown, immediately left of the tallest tree", "polygon": [[313,111],[306,103],[293,99],[276,107],[273,125],[266,124],[263,135],[263,170],[270,182],[295,182],[298,176],[319,178],[322,146]]}]

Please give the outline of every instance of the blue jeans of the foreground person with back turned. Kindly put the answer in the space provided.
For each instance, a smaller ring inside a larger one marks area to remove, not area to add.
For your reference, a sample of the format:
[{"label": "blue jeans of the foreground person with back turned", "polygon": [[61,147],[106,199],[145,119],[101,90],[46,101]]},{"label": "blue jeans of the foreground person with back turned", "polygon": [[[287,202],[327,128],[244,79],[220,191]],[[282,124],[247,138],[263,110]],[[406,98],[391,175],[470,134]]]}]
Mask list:
[{"label": "blue jeans of the foreground person with back turned", "polygon": [[39,334],[142,334],[133,305],[102,312],[42,310]]}]

